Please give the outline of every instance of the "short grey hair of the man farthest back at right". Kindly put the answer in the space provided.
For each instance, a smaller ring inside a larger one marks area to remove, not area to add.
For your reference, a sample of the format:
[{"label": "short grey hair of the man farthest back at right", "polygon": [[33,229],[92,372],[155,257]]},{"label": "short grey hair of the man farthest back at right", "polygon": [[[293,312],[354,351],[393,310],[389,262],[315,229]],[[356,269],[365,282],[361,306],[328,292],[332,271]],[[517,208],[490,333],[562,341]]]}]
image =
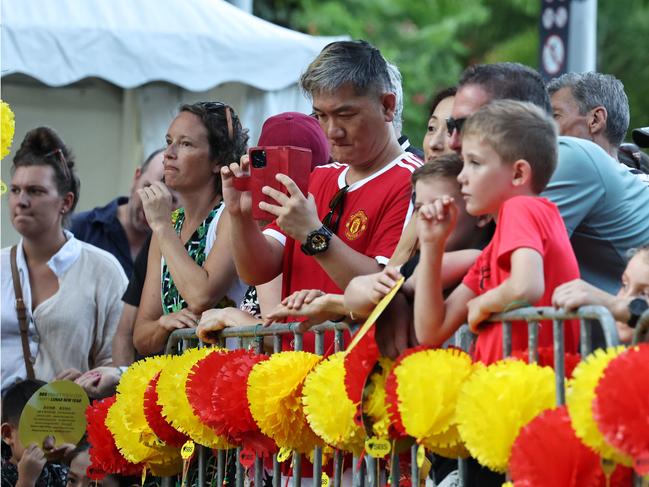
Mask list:
[{"label": "short grey hair of the man farthest back at right", "polygon": [[561,88],[570,88],[581,115],[595,107],[604,107],[608,115],[606,139],[615,147],[624,141],[629,128],[629,99],[619,79],[596,72],[566,73],[548,83],[550,95]]}]

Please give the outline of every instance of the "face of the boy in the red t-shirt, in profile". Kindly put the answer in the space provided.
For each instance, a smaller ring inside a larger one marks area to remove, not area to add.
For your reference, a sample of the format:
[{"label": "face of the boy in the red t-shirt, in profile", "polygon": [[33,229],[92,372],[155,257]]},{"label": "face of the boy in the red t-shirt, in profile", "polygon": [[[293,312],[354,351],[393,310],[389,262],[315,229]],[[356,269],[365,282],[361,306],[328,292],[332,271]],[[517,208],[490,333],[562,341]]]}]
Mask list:
[{"label": "face of the boy in the red t-shirt, in profile", "polygon": [[513,195],[512,167],[481,137],[462,138],[464,167],[457,177],[470,215],[498,216],[500,206]]}]

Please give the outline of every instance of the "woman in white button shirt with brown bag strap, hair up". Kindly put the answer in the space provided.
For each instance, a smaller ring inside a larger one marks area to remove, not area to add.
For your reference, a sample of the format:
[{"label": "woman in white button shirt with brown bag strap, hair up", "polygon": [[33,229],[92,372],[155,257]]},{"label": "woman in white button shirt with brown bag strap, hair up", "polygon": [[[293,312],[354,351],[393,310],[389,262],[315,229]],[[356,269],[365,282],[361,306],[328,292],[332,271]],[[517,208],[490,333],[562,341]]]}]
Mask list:
[{"label": "woman in white button shirt with brown bag strap, hair up", "polygon": [[[21,239],[2,249],[3,391],[26,377],[74,380],[111,363],[126,276],[112,255],[64,229],[78,199],[68,147],[50,128],[28,132],[9,193]],[[16,310],[20,295],[24,319]]]}]

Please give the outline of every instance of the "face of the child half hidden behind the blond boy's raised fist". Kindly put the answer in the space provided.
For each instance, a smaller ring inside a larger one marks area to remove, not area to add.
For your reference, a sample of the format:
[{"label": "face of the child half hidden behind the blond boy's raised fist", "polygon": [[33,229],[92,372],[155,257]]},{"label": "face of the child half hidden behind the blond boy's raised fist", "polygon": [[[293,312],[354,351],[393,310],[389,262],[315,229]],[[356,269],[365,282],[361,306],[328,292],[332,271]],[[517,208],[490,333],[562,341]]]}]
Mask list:
[{"label": "face of the child half hidden behind the blond boy's raised fist", "polygon": [[415,183],[415,211],[422,205],[432,203],[444,195],[451,196],[457,208],[457,223],[446,242],[446,250],[466,249],[470,246],[473,232],[477,231],[476,218],[466,212],[460,185],[455,179],[433,176]]}]

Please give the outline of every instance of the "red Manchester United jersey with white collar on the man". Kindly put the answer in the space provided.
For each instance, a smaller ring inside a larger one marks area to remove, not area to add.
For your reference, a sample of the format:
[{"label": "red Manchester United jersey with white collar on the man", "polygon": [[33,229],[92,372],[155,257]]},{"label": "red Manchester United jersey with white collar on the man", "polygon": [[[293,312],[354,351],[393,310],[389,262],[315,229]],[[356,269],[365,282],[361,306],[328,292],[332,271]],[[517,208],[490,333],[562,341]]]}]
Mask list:
[{"label": "red Manchester United jersey with white collar on the man", "polygon": [[[410,177],[422,164],[406,152],[371,176],[350,185],[336,235],[357,252],[386,264],[412,214]],[[348,170],[346,164],[333,163],[316,167],[311,173],[309,192],[315,198],[320,220],[329,212],[333,196],[346,186]],[[264,233],[284,244],[282,298],[302,289],[343,292],[314,257],[300,250],[302,242],[287,238],[276,222],[268,225]],[[304,336],[304,350],[313,351],[310,334]]]}]

